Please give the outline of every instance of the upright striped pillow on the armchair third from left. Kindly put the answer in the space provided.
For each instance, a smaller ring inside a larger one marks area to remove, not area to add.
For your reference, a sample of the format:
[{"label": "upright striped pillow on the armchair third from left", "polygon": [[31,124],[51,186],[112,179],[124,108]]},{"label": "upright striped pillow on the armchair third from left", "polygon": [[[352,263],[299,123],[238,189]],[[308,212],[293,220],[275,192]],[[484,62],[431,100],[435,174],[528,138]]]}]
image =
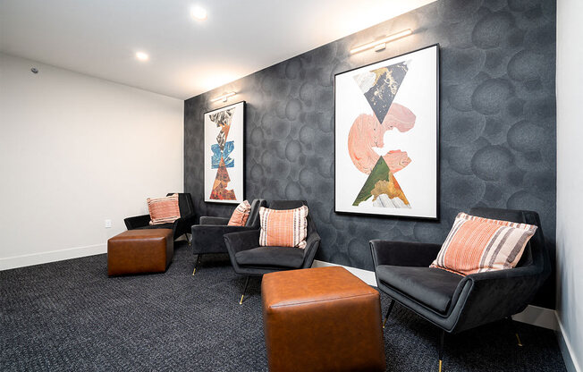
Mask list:
[{"label": "upright striped pillow on the armchair third from left", "polygon": [[260,207],[259,219],[261,222],[260,246],[306,248],[307,206],[282,210]]}]

